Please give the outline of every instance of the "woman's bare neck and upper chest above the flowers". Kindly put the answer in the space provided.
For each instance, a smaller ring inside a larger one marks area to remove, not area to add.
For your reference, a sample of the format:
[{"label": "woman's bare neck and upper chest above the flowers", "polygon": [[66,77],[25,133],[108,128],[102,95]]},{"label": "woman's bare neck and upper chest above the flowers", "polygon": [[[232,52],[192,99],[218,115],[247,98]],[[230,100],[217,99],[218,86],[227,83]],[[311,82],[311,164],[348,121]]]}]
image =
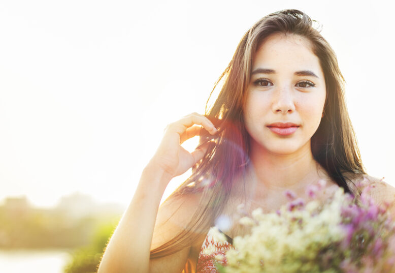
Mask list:
[{"label": "woman's bare neck and upper chest above the flowers", "polygon": [[[256,148],[252,150],[258,151]],[[325,188],[331,188],[331,191],[320,197],[325,200],[338,186],[314,160],[311,149],[291,156],[251,153],[244,175],[232,187],[231,202],[227,204],[224,213],[237,223],[238,217],[241,217],[235,213],[239,210],[239,204],[243,205],[242,210],[247,215],[257,207],[265,213],[276,211],[289,201],[284,194],[286,190],[306,198],[306,187],[317,184],[319,179],[326,181]],[[228,235],[234,237],[244,232],[243,227],[236,224],[228,231]]]}]

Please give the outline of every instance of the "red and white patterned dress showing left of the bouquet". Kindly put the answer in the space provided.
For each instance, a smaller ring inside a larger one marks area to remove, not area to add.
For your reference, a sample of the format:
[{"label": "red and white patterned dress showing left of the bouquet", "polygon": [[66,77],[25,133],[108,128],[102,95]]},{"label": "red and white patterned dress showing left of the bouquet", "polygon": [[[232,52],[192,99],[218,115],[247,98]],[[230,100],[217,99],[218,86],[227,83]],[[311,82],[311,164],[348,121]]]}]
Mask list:
[{"label": "red and white patterned dress showing left of the bouquet", "polygon": [[200,249],[196,273],[218,273],[215,263],[226,265],[225,253],[229,249],[234,249],[232,244],[217,238],[210,229]]}]

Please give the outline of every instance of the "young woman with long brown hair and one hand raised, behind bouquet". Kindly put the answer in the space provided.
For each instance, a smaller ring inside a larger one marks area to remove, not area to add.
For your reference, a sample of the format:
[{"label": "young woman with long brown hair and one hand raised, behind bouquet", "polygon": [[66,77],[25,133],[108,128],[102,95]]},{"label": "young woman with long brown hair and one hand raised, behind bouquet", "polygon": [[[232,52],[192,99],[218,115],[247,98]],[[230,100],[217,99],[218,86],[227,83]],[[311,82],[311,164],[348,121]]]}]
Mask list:
[{"label": "young woman with long brown hair and one hand raised, behind bouquet", "polygon": [[[284,191],[303,197],[322,180],[322,200],[338,187],[357,197],[361,180],[377,184],[377,202],[394,200],[392,187],[366,174],[336,55],[306,14],[284,10],[256,22],[219,82],[206,115],[192,113],[165,130],[99,272],[203,272],[209,228],[232,223],[237,205],[246,213],[278,209]],[[201,143],[188,153],[180,144],[195,135]],[[190,167],[158,208],[169,181]],[[229,238],[243,233],[222,226]]]}]

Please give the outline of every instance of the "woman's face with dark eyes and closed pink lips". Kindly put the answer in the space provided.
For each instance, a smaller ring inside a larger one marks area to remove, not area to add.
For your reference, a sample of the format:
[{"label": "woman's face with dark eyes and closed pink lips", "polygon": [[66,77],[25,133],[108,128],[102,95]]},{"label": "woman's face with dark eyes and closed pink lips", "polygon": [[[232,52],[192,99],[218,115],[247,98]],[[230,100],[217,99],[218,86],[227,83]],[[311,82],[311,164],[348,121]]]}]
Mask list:
[{"label": "woman's face with dark eyes and closed pink lips", "polygon": [[253,60],[243,108],[251,149],[277,155],[310,150],[325,96],[324,75],[310,42],[293,34],[269,36]]}]

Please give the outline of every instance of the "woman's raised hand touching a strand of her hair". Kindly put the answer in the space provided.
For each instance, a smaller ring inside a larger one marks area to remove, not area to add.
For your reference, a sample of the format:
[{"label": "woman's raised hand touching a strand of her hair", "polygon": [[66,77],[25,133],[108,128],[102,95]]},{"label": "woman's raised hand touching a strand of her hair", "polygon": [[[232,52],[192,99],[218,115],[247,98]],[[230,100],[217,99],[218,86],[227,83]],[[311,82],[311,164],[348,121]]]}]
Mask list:
[{"label": "woman's raised hand touching a strand of her hair", "polygon": [[207,130],[212,135],[218,132],[206,116],[198,113],[191,113],[169,124],[164,129],[163,139],[151,162],[169,174],[171,178],[186,172],[203,158],[209,142],[198,146],[192,153],[185,150],[181,144],[199,135],[201,130]]}]

